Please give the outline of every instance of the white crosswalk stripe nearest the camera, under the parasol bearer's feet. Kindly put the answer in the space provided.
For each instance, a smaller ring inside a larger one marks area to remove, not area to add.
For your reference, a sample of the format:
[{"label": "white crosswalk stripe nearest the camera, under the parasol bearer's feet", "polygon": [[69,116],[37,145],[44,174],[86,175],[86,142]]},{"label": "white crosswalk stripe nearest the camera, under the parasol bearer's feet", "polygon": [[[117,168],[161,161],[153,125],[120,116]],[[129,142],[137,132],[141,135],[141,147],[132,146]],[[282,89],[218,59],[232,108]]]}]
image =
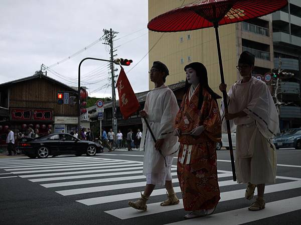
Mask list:
[{"label": "white crosswalk stripe nearest the camera, under the parasol bearer's feet", "polygon": [[250,212],[248,207],[239,208],[235,210],[220,212],[213,214],[212,216],[199,217],[194,219],[182,220],[179,222],[169,223],[168,225],[190,225],[190,224],[201,224],[206,223],[208,225],[236,225],[247,222],[264,219],[267,217],[281,215],[287,212],[301,209],[301,196],[286,198],[283,200],[268,202],[265,205],[265,209]]}]

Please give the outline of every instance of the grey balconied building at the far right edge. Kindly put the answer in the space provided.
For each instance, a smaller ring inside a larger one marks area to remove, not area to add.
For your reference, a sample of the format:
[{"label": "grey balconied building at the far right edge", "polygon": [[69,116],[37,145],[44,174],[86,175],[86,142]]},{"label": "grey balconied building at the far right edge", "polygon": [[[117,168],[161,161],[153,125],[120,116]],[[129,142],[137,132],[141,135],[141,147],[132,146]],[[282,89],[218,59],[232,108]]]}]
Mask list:
[{"label": "grey balconied building at the far right edge", "polygon": [[280,129],[301,127],[301,1],[289,0],[286,7],[272,13],[272,19],[274,72],[291,73],[279,76],[274,93],[280,102]]}]

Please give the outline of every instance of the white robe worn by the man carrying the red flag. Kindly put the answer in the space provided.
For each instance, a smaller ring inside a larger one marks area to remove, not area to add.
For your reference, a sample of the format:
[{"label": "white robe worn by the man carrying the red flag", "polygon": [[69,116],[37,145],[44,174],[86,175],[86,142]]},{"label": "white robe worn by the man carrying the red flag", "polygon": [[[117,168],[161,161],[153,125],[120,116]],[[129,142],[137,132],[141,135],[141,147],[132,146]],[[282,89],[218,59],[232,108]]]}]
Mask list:
[{"label": "white robe worn by the man carrying the red flag", "polygon": [[[144,109],[148,114],[147,120],[156,139],[164,138],[162,154],[155,149],[155,142],[142,119],[143,132],[140,149],[144,149],[143,174],[152,177],[147,183],[164,185],[168,177],[171,179],[173,156],[178,154],[178,137],[173,135],[174,124],[179,106],[173,91],[164,84],[149,91],[146,96]],[[158,175],[159,174],[159,175]],[[156,177],[153,179],[153,177]]]}]

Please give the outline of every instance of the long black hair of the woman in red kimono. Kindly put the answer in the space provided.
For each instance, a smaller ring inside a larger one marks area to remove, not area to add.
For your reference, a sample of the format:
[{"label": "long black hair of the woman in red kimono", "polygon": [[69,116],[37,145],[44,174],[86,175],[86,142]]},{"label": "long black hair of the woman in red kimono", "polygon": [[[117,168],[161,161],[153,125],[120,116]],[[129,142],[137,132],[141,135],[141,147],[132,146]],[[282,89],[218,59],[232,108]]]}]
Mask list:
[{"label": "long black hair of the woman in red kimono", "polygon": [[[211,97],[217,102],[216,99],[222,98],[220,95],[215,93],[208,84],[208,76],[207,76],[207,69],[205,65],[201,62],[192,62],[184,67],[184,70],[186,71],[187,68],[193,68],[197,72],[197,77],[200,81],[200,92],[199,92],[199,102],[198,102],[198,109],[202,108],[203,105],[203,88],[206,88],[206,90],[209,92]],[[190,83],[188,83],[188,80],[186,78],[185,82],[185,93],[188,94],[188,89],[191,86]]]}]

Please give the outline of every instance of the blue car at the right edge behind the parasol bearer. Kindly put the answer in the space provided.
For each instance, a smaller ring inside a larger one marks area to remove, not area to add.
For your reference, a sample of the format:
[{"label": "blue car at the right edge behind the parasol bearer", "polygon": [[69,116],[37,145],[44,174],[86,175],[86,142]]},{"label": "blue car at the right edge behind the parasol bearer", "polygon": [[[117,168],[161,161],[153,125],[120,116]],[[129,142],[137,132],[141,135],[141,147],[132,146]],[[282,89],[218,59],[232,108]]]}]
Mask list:
[{"label": "blue car at the right edge behind the parasol bearer", "polygon": [[301,128],[288,129],[285,133],[273,139],[275,147],[294,147],[301,149]]}]

